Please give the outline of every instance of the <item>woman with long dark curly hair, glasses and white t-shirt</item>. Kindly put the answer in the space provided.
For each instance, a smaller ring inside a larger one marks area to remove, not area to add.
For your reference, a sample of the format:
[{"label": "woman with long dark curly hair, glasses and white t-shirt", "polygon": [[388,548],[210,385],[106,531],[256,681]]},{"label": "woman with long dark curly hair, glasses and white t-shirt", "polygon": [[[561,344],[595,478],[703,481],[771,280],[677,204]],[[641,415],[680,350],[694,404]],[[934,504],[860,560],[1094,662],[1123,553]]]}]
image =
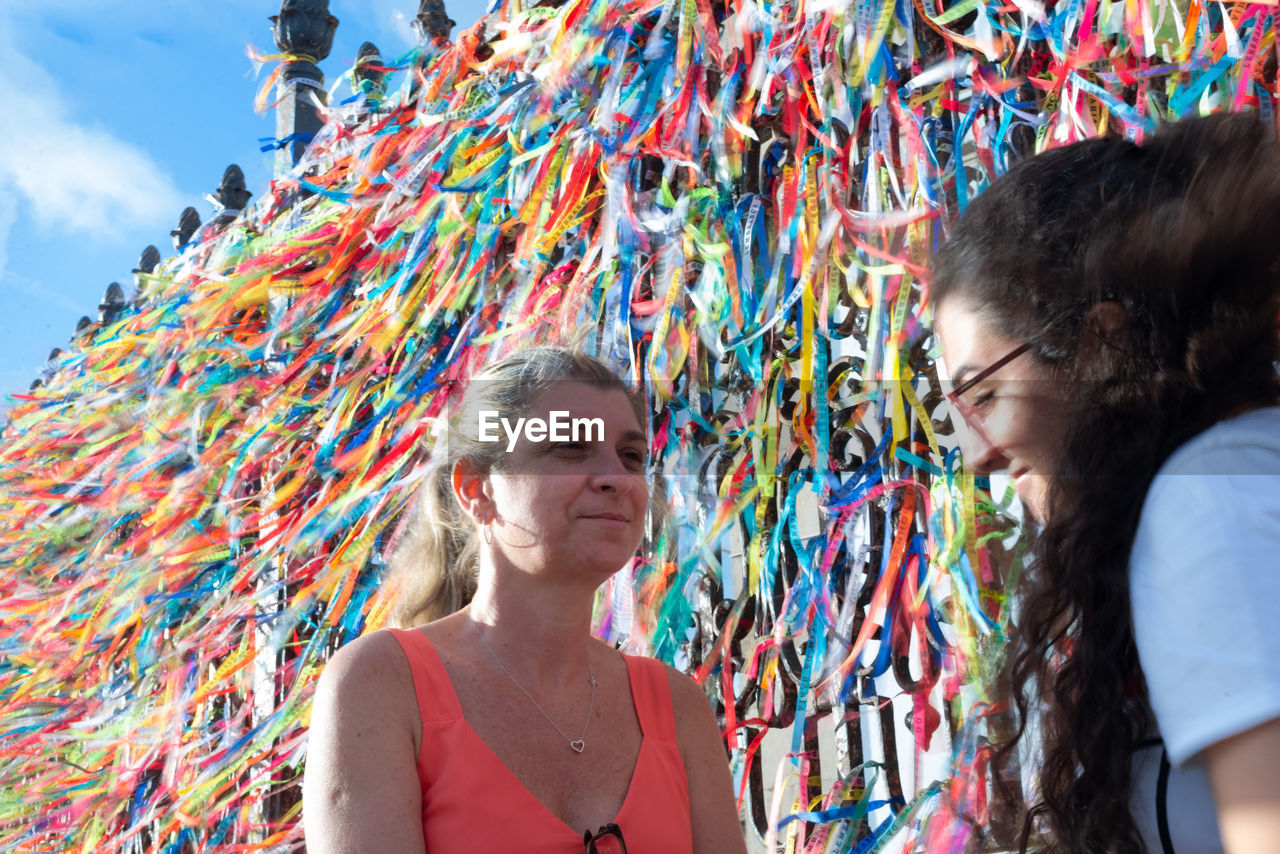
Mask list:
[{"label": "woman with long dark curly hair, glasses and white t-shirt", "polygon": [[1249,115],[1032,157],[932,298],[961,449],[1037,522],[1021,848],[1280,851],[1280,149]]}]

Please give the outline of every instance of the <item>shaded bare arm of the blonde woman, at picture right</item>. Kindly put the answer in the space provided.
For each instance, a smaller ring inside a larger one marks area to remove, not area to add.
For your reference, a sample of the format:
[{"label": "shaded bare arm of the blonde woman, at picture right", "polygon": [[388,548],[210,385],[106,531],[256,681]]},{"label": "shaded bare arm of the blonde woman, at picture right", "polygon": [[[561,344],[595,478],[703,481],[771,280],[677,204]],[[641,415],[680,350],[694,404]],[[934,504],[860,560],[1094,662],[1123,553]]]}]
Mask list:
[{"label": "shaded bare arm of the blonde woman, at picture right", "polygon": [[676,712],[676,740],[689,778],[694,854],[746,854],[716,712],[691,679],[675,670],[667,675]]}]

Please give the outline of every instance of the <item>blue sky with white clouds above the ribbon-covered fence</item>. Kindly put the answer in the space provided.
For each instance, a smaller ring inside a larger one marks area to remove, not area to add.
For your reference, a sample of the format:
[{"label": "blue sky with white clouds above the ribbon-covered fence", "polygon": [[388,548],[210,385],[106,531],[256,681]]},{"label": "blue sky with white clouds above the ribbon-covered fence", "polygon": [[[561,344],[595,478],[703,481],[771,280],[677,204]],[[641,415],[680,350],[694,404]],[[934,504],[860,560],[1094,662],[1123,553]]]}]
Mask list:
[{"label": "blue sky with white clouds above the ribbon-covered fence", "polygon": [[[481,0],[447,0],[454,35]],[[246,45],[274,52],[279,0],[0,0],[0,398],[26,391],[106,286],[238,163],[257,200],[271,177]],[[413,44],[417,0],[330,0],[321,63],[332,83],[369,40],[390,59]],[[339,91],[339,97],[348,92]],[[0,402],[0,411],[8,408]]]}]

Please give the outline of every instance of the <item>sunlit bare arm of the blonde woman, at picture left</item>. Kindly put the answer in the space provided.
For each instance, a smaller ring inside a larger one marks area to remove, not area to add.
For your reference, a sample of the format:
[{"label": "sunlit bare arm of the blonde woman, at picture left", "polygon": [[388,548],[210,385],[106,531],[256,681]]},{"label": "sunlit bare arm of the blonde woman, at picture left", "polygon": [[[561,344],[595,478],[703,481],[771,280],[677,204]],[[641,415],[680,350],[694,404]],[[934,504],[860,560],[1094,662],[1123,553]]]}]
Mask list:
[{"label": "sunlit bare arm of the blonde woman, at picture left", "polygon": [[343,647],[320,676],[302,821],[310,854],[425,854],[408,662],[385,632]]}]

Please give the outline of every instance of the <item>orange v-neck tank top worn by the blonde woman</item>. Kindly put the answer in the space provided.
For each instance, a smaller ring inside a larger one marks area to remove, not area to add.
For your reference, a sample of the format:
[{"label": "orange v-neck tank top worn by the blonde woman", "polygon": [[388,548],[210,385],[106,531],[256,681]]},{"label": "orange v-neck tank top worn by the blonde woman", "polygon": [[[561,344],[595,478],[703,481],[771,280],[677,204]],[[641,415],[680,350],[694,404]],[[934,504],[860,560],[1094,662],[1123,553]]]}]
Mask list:
[{"label": "orange v-neck tank top worn by the blonde woman", "polygon": [[[426,635],[415,629],[390,631],[408,658],[422,717],[417,778],[428,851],[485,854],[518,848],[526,854],[582,854],[586,828],[575,830],[553,816],[463,720],[444,662]],[[650,658],[623,658],[643,737],[613,822],[622,828],[628,854],[692,854],[689,781],[676,746],[666,670]],[[494,844],[495,826],[509,845]]]}]

